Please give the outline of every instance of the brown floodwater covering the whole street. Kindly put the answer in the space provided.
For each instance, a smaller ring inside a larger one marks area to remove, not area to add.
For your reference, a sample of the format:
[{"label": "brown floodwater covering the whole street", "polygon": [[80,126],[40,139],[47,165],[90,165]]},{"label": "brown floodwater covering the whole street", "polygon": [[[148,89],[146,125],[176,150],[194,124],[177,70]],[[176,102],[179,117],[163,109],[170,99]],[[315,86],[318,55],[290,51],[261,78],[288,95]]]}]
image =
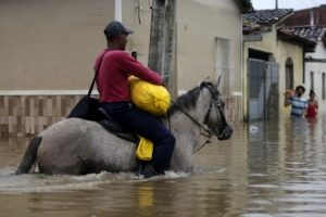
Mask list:
[{"label": "brown floodwater covering the whole street", "polygon": [[[195,154],[192,173],[14,176],[30,138],[1,138],[0,216],[326,215],[326,118],[234,124]],[[201,143],[205,138],[201,139]]]}]

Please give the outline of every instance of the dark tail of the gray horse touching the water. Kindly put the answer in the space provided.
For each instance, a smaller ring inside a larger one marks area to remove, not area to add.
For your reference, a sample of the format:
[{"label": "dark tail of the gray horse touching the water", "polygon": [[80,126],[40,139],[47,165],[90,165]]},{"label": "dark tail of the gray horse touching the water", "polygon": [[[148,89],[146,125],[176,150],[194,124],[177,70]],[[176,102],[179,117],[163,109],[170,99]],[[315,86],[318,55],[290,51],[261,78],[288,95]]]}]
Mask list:
[{"label": "dark tail of the gray horse touching the water", "polygon": [[41,136],[37,136],[32,139],[26,150],[26,153],[22,159],[22,163],[17,168],[17,170],[15,171],[15,175],[27,174],[30,170],[33,164],[36,162],[37,149],[41,141],[42,141]]}]

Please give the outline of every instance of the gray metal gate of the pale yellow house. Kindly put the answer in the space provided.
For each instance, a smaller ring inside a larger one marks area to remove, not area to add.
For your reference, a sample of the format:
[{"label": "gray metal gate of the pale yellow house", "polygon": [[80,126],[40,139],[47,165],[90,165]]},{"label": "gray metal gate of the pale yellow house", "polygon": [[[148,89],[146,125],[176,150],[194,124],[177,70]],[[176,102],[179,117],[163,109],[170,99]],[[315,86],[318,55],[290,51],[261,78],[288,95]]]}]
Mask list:
[{"label": "gray metal gate of the pale yellow house", "polygon": [[248,60],[249,120],[271,119],[278,112],[278,64],[262,60]]}]

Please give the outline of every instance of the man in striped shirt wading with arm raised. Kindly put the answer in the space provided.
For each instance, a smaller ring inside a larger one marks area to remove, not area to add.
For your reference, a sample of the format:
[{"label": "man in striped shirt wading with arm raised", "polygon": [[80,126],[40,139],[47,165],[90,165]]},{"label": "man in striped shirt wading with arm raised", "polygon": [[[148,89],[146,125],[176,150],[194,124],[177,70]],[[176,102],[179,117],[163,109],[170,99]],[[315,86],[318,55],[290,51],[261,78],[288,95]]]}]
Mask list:
[{"label": "man in striped shirt wading with arm raised", "polygon": [[288,98],[288,94],[285,93],[284,106],[292,105],[291,117],[302,117],[308,108],[306,99],[302,97],[305,88],[303,86],[298,86],[296,88],[296,95]]}]

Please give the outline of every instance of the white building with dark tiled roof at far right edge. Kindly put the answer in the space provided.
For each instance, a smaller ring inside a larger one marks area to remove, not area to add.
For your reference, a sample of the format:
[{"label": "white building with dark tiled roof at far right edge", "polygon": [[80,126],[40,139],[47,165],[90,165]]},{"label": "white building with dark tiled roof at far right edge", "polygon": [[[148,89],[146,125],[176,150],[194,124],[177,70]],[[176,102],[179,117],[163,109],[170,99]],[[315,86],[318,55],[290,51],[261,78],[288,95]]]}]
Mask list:
[{"label": "white building with dark tiled roof at far right edge", "polygon": [[313,49],[304,50],[303,86],[316,93],[319,115],[326,114],[326,4],[294,11],[281,24],[281,31],[314,41]]}]

